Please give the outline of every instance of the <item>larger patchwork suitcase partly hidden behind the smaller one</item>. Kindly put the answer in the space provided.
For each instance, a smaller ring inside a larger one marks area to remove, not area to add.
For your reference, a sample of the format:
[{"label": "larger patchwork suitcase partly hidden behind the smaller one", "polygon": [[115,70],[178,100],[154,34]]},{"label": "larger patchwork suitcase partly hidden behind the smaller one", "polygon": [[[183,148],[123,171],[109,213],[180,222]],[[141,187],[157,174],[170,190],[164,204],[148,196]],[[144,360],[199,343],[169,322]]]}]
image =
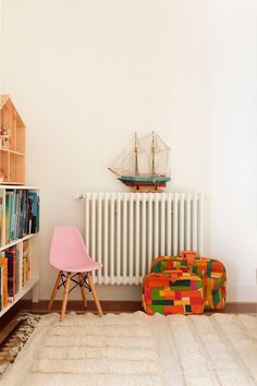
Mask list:
[{"label": "larger patchwork suitcase partly hidden behind the smaller one", "polygon": [[151,273],[171,269],[191,272],[199,276],[204,284],[205,310],[223,310],[225,306],[227,275],[223,264],[215,258],[195,257],[193,265],[185,256],[159,256],[151,264]]}]

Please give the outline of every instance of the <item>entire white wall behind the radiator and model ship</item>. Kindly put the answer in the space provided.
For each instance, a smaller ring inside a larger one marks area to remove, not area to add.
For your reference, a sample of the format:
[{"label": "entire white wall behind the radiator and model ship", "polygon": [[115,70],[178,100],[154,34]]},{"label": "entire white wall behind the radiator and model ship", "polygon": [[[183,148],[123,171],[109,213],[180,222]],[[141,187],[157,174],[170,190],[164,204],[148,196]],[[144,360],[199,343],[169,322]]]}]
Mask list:
[{"label": "entire white wall behind the radiator and model ship", "polygon": [[83,226],[73,193],[124,190],[107,167],[155,130],[172,147],[169,190],[209,196],[206,252],[228,266],[229,300],[256,300],[256,16],[243,0],[2,0],[2,91],[42,194],[41,299],[52,228]]}]

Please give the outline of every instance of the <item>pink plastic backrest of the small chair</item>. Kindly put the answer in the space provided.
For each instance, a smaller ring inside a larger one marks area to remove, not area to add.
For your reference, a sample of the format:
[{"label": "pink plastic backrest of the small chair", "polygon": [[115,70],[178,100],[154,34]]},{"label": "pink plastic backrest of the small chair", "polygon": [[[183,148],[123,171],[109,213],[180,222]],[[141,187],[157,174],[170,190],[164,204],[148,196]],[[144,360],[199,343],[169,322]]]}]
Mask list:
[{"label": "pink plastic backrest of the small chair", "polygon": [[53,267],[75,267],[91,262],[81,232],[75,227],[56,227],[50,249],[50,264]]}]

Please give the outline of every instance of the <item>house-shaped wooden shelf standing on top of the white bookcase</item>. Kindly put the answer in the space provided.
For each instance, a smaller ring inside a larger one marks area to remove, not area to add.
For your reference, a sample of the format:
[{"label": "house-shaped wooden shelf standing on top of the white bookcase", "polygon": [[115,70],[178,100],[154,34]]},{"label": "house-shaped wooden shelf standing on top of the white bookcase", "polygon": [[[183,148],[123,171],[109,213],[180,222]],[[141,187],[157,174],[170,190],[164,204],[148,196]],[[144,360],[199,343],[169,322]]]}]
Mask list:
[{"label": "house-shaped wooden shelf standing on top of the white bookcase", "polygon": [[25,124],[9,95],[0,95],[0,183],[25,183]]}]

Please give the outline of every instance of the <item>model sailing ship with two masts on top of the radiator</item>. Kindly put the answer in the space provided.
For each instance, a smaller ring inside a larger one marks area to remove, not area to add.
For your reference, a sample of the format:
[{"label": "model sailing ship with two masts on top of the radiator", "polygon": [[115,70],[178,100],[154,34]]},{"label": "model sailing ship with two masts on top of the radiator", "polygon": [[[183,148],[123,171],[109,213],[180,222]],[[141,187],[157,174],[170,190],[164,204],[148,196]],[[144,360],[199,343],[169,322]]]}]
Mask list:
[{"label": "model sailing ship with two masts on top of the radiator", "polygon": [[170,148],[158,134],[138,138],[123,152],[110,169],[132,191],[161,192],[170,178]]}]

